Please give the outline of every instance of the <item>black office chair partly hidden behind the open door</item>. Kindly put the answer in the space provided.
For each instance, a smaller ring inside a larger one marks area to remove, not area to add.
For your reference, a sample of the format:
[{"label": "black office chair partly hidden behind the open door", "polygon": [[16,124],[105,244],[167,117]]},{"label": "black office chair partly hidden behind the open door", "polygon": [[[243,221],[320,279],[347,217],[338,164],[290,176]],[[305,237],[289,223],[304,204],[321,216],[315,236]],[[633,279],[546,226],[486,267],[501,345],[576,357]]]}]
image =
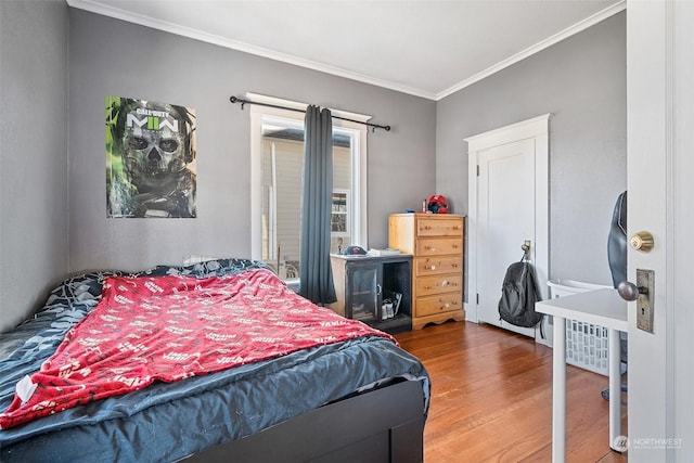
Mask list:
[{"label": "black office chair partly hidden behind the open door", "polygon": [[[627,280],[627,192],[617,197],[615,210],[612,214],[609,233],[607,235],[607,260],[612,272],[614,287]],[[627,363],[627,333],[619,334],[621,347],[621,363]],[[627,385],[621,385],[621,390],[627,390]],[[609,400],[609,388],[603,389],[602,396]]]}]

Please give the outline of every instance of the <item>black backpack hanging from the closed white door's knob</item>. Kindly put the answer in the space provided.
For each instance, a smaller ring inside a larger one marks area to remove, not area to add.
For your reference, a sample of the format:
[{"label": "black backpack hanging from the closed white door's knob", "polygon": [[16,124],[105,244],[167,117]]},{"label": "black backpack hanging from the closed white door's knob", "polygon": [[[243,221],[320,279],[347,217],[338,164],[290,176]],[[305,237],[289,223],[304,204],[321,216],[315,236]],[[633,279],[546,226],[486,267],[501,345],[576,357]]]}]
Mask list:
[{"label": "black backpack hanging from the closed white door's knob", "polygon": [[535,303],[538,300],[542,298],[532,266],[526,261],[512,263],[501,287],[500,319],[516,326],[532,327],[542,321],[543,314],[535,311]]}]

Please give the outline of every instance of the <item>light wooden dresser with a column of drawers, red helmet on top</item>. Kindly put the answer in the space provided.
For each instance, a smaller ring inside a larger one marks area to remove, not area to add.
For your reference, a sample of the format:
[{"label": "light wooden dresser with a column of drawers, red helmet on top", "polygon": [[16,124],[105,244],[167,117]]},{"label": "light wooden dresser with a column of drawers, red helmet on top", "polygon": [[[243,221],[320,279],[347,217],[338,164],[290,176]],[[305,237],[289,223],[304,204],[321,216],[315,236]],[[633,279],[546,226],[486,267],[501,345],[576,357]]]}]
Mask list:
[{"label": "light wooden dresser with a column of drawers, red helmet on top", "polygon": [[463,308],[464,216],[393,214],[388,246],[414,256],[412,329],[465,320]]}]

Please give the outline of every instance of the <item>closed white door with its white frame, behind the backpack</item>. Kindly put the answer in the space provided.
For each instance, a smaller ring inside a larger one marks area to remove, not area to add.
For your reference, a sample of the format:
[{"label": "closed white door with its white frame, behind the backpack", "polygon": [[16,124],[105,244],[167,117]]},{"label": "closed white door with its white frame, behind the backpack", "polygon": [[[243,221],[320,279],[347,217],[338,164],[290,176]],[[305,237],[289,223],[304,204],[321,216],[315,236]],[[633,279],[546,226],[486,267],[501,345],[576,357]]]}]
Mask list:
[{"label": "closed white door with its white frame, behind the backpack", "polygon": [[[465,318],[544,344],[537,329],[500,322],[499,299],[506,269],[520,260],[526,241],[530,241],[529,257],[541,296],[547,298],[549,120],[545,114],[465,139],[470,195]],[[543,323],[547,327],[547,321]]]}]

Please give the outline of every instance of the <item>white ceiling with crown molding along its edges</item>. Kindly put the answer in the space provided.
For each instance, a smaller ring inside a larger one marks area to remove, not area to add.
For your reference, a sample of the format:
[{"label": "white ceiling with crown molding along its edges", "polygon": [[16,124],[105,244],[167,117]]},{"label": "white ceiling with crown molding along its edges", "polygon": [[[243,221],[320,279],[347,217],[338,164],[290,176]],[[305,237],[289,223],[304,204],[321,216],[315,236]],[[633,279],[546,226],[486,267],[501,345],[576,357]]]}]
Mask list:
[{"label": "white ceiling with crown molding along its edges", "polygon": [[94,13],[439,100],[626,0],[67,0]]}]

